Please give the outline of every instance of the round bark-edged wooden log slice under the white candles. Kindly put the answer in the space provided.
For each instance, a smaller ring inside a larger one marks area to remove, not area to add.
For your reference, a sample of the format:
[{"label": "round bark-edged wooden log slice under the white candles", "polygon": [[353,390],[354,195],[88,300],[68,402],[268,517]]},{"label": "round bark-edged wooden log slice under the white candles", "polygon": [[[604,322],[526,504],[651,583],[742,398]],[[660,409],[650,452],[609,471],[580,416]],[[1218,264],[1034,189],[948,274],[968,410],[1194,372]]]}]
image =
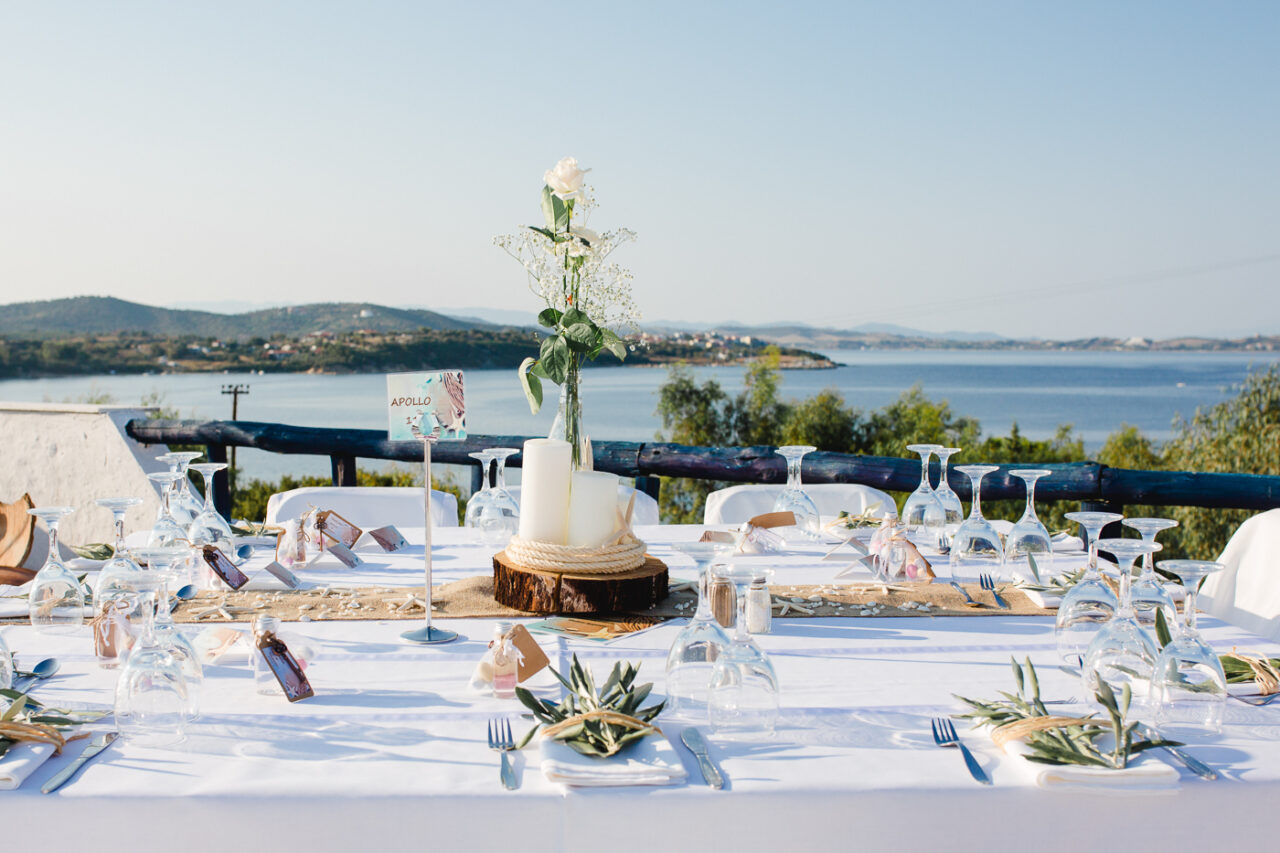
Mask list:
[{"label": "round bark-edged wooden log slice under the white candles", "polygon": [[493,557],[493,597],[530,613],[605,613],[649,610],[667,597],[667,565],[645,555],[644,565],[608,575],[525,569]]}]

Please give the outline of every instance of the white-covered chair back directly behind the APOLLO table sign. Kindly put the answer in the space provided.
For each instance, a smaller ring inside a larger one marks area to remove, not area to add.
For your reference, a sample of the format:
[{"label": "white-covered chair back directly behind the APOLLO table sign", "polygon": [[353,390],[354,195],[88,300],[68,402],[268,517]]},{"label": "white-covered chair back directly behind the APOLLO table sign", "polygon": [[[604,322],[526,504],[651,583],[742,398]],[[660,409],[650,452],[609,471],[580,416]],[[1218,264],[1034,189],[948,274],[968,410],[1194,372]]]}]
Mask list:
[{"label": "white-covered chair back directly behind the APOLLO table sign", "polygon": [[[266,523],[296,519],[311,507],[333,510],[358,528],[394,524],[401,530],[422,526],[422,489],[412,485],[315,485],[276,492],[266,502]],[[458,500],[431,489],[431,524],[458,526]]]}]

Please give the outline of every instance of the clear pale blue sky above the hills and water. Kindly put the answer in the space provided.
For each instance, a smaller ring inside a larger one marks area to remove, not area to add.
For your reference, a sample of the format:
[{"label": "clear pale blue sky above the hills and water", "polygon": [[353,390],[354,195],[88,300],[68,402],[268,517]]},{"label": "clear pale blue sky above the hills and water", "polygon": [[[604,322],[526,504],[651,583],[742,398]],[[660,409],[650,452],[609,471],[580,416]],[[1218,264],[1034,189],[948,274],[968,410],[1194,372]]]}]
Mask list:
[{"label": "clear pale blue sky above the hills and water", "polygon": [[594,170],[649,318],[1280,333],[1280,3],[3,3],[0,301],[536,309]]}]

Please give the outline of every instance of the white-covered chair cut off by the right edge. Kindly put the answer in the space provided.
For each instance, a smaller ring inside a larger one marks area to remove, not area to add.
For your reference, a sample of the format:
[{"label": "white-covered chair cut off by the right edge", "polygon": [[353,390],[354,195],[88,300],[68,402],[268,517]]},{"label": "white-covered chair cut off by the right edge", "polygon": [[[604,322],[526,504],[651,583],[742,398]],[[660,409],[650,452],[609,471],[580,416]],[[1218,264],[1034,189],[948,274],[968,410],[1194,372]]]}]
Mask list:
[{"label": "white-covered chair cut off by the right edge", "polygon": [[1199,608],[1260,637],[1280,640],[1280,510],[1248,519],[1217,560],[1226,569],[1204,580]]}]

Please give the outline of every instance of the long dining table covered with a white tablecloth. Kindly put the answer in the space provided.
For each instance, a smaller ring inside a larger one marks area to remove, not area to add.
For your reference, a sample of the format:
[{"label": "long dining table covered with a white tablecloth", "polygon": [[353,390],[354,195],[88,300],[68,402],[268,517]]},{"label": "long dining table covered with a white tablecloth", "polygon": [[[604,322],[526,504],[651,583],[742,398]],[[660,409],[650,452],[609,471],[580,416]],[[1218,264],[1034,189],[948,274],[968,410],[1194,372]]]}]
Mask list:
[{"label": "long dining table covered with a white tablecloth", "polygon": [[[673,544],[700,526],[639,528],[673,579],[692,562]],[[421,530],[404,530],[398,553],[360,547],[351,570],[324,557],[300,573],[307,583],[410,587],[422,583]],[[434,579],[490,570],[492,547],[467,529],[434,535]],[[778,557],[774,583],[842,583],[842,564],[824,548]],[[253,585],[282,587],[257,551]],[[942,567],[945,573],[945,565]],[[92,581],[92,579],[91,579]],[[685,620],[599,643],[539,635],[556,667],[577,654],[598,671],[640,665],[640,681],[660,697],[667,649]],[[201,716],[184,743],[148,749],[120,739],[76,780],[42,795],[41,783],[78,752],[46,762],[14,792],[0,793],[0,839],[8,849],[182,850],[429,849],[462,853],[530,850],[762,850],[786,848],[1071,850],[1262,843],[1272,836],[1268,806],[1280,797],[1280,703],[1228,706],[1221,735],[1188,742],[1216,781],[1179,767],[1180,785],[1160,794],[1068,793],[1037,786],[1028,763],[1001,753],[988,735],[957,729],[991,775],[975,784],[955,749],[938,748],[931,720],[963,710],[955,694],[989,698],[1011,689],[1010,658],[1030,658],[1047,698],[1079,693],[1059,669],[1047,616],[776,617],[758,635],[781,684],[773,738],[728,742],[710,734],[724,790],[704,785],[684,747],[684,784],[655,788],[564,788],[548,781],[538,751],[515,753],[517,790],[499,784],[499,756],[486,744],[490,720],[522,734],[531,722],[512,699],[468,686],[493,634],[484,619],[442,620],[462,639],[415,646],[412,622],[308,621],[284,630],[315,647],[307,674],[316,695],[289,704],[255,690],[241,661],[206,666]],[[1221,651],[1277,653],[1274,644],[1203,617]],[[239,625],[244,628],[244,625]],[[183,630],[195,633],[196,625]],[[101,669],[88,628],[65,637],[4,628],[20,663],[56,656],[59,674],[35,688],[50,706],[110,708],[116,672]],[[110,727],[110,717],[102,726]],[[681,724],[659,717],[678,744]],[[1157,756],[1144,761],[1162,761]],[[837,845],[840,845],[837,848]]]}]

